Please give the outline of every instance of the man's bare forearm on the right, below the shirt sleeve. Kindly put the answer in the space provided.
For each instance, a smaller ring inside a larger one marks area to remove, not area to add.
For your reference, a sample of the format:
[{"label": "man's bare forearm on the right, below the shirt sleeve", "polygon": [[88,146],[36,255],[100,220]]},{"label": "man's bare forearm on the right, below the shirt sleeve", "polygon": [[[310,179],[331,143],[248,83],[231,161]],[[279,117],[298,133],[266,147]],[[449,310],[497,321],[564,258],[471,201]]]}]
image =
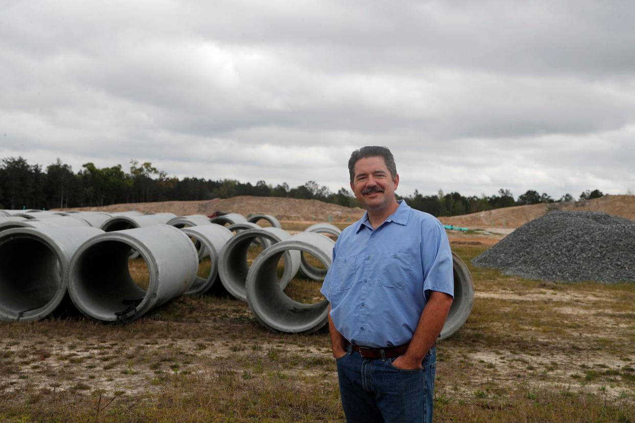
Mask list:
[{"label": "man's bare forearm on the right, below the shirt sleeve", "polygon": [[[420,367],[425,354],[434,345],[443,329],[452,306],[452,297],[444,292],[432,291],[417,323],[408,350],[401,356],[402,365]],[[405,362],[403,362],[405,361]]]}]

